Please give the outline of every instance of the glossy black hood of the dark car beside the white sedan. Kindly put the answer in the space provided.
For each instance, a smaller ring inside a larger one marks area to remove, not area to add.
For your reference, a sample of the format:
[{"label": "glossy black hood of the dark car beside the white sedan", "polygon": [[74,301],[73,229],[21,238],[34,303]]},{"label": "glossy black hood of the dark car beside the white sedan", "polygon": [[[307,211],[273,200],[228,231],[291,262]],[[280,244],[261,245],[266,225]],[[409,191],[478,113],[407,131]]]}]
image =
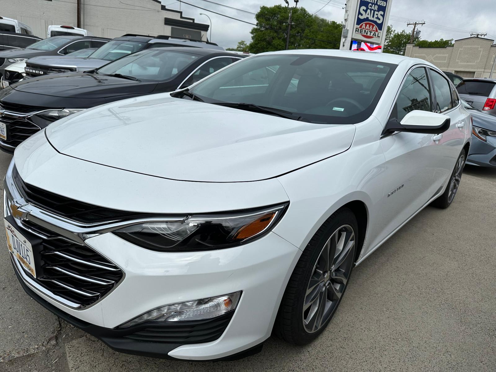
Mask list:
[{"label": "glossy black hood of the dark car beside the white sedan", "polygon": [[12,88],[26,93],[37,93],[64,98],[105,98],[146,94],[157,83],[144,83],[119,77],[83,72],[57,73],[22,80]]}]

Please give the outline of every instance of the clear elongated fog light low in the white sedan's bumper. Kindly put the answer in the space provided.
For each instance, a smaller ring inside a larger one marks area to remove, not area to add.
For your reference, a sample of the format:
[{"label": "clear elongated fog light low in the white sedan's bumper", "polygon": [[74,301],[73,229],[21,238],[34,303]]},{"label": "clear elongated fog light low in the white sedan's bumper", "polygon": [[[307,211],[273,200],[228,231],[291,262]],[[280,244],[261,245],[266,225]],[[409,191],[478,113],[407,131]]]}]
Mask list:
[{"label": "clear elongated fog light low in the white sedan's bumper", "polygon": [[241,291],[219,297],[162,306],[124,323],[121,327],[130,327],[145,321],[174,322],[215,318],[236,309],[240,297]]}]

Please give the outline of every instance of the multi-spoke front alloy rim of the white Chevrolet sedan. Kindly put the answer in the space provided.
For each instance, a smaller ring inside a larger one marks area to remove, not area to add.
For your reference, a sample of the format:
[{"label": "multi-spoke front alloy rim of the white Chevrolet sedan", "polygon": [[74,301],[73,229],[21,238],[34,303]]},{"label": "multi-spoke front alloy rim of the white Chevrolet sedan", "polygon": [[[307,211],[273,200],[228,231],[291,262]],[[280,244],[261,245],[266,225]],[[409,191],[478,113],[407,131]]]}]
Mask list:
[{"label": "multi-spoke front alloy rim of the white Chevrolet sedan", "polygon": [[336,310],[353,266],[355,232],[338,228],[324,244],[313,267],[303,303],[303,325],[308,333],[322,328]]}]

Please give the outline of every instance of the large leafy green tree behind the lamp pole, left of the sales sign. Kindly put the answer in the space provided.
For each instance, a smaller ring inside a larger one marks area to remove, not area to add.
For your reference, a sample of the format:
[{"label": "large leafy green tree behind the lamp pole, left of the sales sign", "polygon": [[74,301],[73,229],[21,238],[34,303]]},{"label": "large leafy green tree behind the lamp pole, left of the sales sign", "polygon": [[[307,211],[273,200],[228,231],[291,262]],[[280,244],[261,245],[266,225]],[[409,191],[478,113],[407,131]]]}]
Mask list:
[{"label": "large leafy green tree behind the lamp pole, left of the sales sign", "polygon": [[[286,48],[290,9],[283,5],[261,6],[256,13],[257,26],[251,29],[251,53],[271,52]],[[342,26],[310,14],[304,7],[293,9],[289,49],[339,47]],[[313,40],[321,39],[323,41]]]}]

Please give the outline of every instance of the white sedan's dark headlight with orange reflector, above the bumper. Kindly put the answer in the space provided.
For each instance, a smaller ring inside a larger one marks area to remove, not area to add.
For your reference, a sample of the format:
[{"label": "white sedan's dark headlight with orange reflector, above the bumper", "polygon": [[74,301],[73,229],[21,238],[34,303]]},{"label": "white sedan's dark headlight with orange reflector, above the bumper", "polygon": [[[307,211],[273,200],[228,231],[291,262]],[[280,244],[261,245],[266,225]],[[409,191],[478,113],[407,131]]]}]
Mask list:
[{"label": "white sedan's dark headlight with orange reflector, above the bumper", "polygon": [[114,234],[137,246],[163,252],[229,248],[267,234],[281,219],[287,205],[150,221],[124,227]]}]

